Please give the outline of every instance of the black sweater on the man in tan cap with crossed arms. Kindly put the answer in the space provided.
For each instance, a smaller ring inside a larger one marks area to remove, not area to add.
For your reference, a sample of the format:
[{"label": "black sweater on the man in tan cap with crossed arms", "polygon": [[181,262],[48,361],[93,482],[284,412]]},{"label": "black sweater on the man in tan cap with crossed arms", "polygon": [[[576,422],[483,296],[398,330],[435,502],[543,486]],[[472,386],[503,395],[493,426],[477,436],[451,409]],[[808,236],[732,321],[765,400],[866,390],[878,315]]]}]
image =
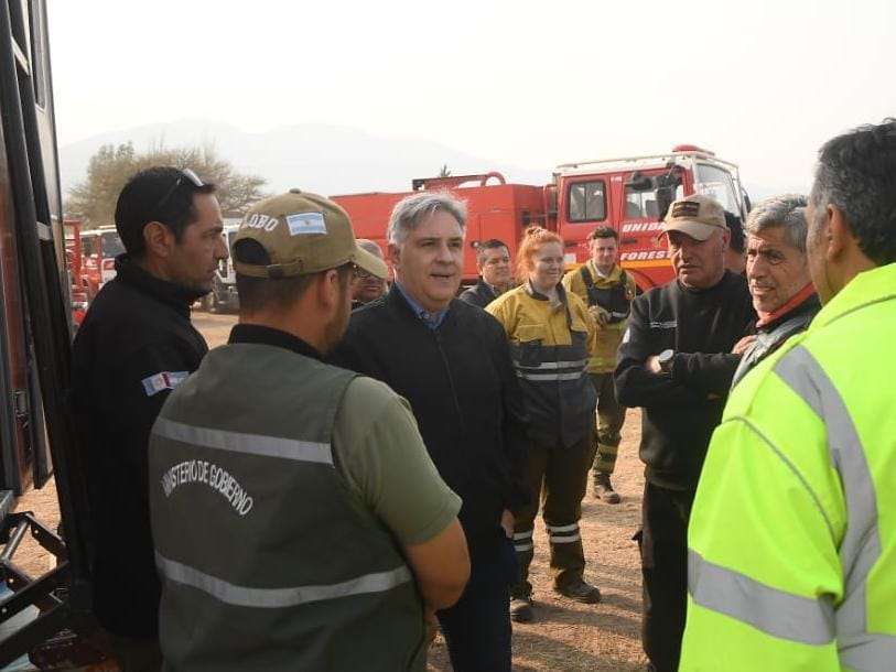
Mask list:
[{"label": "black sweater on the man in tan cap with crossed arms", "polygon": [[[633,302],[614,376],[619,403],[644,407],[640,458],[650,483],[697,487],[740,361],[731,349],[755,319],[746,280],[727,271],[709,290],[673,280]],[[669,348],[676,353],[670,373],[644,367]]]}]

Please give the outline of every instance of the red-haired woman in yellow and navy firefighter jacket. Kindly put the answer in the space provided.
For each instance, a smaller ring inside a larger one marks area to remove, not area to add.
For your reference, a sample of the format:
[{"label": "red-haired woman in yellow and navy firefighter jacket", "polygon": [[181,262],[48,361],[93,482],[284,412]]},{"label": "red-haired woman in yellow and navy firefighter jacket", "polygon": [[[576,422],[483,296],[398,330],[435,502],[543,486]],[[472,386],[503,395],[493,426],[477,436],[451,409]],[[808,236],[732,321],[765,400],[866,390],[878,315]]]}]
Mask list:
[{"label": "red-haired woman in yellow and navy firefighter jacket", "polygon": [[585,559],[579,534],[582,497],[594,459],[594,388],[587,362],[595,348],[595,325],[584,302],[566,293],[563,240],[530,227],[517,254],[520,286],[493,301],[492,313],[507,332],[523,390],[531,443],[527,462],[529,503],[515,511],[514,544],[520,564],[511,587],[510,615],[532,620],[532,529],[543,491],[543,517],[551,543],[555,592],[596,603],[600,590],[585,583]]}]

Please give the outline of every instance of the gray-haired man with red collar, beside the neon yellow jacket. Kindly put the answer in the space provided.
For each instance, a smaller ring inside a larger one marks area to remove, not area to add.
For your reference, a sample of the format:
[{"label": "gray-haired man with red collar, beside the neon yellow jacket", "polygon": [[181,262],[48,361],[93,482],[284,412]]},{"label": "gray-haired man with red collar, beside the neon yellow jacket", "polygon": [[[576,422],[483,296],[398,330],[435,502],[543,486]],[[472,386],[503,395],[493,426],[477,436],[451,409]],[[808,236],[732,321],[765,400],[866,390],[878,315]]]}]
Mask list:
[{"label": "gray-haired man with red collar, beside the neon yellow jacket", "polygon": [[794,334],[805,332],[821,304],[806,257],[805,196],[784,194],[759,203],[747,217],[746,275],[756,334],[735,347],[742,353],[732,386]]}]

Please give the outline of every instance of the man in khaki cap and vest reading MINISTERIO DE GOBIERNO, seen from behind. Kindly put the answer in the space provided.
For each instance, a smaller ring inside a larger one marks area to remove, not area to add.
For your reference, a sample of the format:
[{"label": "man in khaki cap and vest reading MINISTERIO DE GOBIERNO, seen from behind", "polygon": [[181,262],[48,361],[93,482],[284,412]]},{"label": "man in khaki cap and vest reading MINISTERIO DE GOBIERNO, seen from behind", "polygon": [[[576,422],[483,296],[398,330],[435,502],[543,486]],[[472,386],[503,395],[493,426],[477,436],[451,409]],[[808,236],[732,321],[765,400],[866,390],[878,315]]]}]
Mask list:
[{"label": "man in khaki cap and vest reading MINISTERIO DE GOBIERNO, seen from behind", "polygon": [[150,443],[165,669],[422,672],[469,575],[461,501],[408,403],[321,361],[355,270],[386,264],[299,189],[258,203],[233,254],[239,324]]}]

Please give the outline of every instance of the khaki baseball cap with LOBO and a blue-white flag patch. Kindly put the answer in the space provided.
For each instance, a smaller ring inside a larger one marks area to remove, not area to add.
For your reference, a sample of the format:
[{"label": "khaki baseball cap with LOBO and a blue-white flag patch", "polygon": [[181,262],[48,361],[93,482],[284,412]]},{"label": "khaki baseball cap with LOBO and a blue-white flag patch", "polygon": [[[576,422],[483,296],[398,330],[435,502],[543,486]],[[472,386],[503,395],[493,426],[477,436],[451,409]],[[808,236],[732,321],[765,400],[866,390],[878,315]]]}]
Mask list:
[{"label": "khaki baseball cap with LOBO and a blue-white flag patch", "polygon": [[255,204],[230,243],[255,240],[269,264],[245,263],[233,256],[237,273],[250,278],[307,275],[355,263],[377,278],[386,278],[386,263],[358,247],[352,220],[338,205],[316,194],[290,189]]}]

